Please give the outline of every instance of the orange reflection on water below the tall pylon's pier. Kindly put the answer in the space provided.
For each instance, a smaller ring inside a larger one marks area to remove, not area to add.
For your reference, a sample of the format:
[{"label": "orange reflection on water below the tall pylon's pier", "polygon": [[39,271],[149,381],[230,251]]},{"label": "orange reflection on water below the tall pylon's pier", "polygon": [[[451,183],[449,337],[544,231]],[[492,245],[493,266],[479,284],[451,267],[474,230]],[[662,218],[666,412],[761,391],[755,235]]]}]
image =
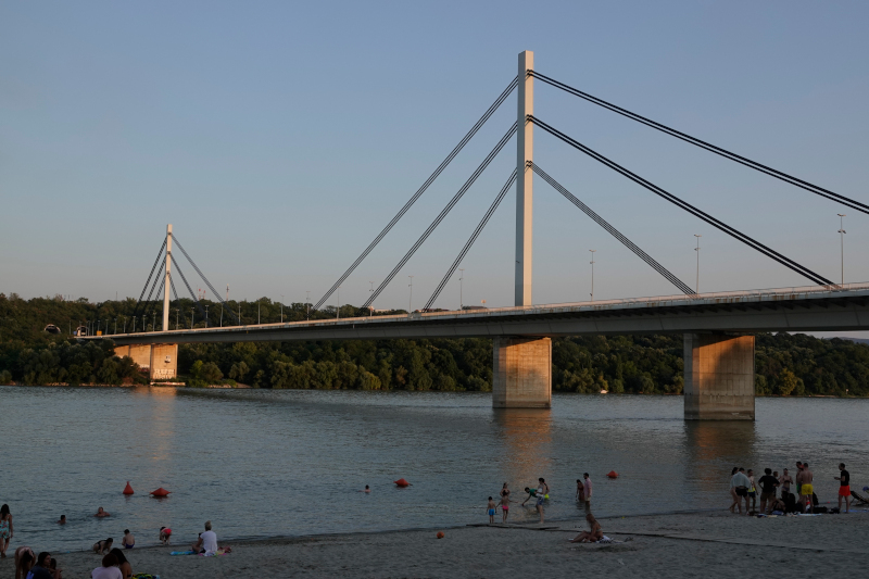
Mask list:
[{"label": "orange reflection on water below the tall pylon's pier", "polygon": [[501,455],[506,462],[509,480],[521,481],[513,489],[516,496],[552,466],[552,411],[543,408],[493,408]]}]

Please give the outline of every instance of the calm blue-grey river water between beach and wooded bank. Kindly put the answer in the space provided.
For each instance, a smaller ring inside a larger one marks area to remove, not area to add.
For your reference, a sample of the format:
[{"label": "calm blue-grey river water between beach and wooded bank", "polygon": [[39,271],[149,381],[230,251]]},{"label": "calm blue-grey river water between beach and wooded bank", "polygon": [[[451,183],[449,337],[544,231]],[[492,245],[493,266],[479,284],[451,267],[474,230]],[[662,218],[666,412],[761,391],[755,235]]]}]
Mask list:
[{"label": "calm blue-grey river water between beach and wooded bank", "polygon": [[[125,528],[155,544],[161,526],[186,544],[206,519],[222,541],[484,523],[503,482],[521,501],[541,476],[547,518],[565,518],[581,514],[582,473],[601,516],[726,507],[736,465],[808,461],[821,501],[835,501],[840,461],[869,484],[869,400],[761,398],[753,424],[685,423],[680,397],[494,411],[477,393],[0,387],[0,401],[13,550],[81,550]],[[158,487],[169,498],[150,498]],[[93,518],[99,506],[112,516]]]}]

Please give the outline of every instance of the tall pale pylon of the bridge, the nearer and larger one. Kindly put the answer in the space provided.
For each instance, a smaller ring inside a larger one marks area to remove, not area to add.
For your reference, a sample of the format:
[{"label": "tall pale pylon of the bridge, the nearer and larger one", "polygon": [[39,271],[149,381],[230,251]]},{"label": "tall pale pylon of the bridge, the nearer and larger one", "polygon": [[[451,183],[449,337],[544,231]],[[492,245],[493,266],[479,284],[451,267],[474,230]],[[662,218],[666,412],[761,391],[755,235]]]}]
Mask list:
[{"label": "tall pale pylon of the bridge, the nearer and larger one", "polygon": [[516,131],[516,295],[515,305],[531,305],[532,216],[534,125],[528,115],[534,114],[534,53],[519,53],[519,89]]}]

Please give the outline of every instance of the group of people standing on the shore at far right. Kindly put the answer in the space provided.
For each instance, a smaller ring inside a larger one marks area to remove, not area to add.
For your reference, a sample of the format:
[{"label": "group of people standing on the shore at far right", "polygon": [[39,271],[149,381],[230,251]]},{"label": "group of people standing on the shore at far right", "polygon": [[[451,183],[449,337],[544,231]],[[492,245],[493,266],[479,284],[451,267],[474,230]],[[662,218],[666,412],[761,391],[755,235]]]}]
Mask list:
[{"label": "group of people standing on the shore at far right", "polygon": [[[837,511],[848,513],[851,509],[851,474],[845,469],[844,463],[839,464],[839,476],[833,477],[833,480],[839,481]],[[756,483],[754,470],[750,468],[746,471],[742,467],[734,466],[730,474],[730,496],[732,499],[730,512],[739,512],[741,515],[744,501],[745,512],[748,515],[768,515],[773,512],[814,513],[818,503],[814,481],[815,474],[809,469],[808,463],[799,461],[796,462],[796,477],[791,477],[786,468],[781,475],[778,470],[765,468],[764,476],[757,479]],[[792,486],[795,486],[795,495],[791,493]],[[758,487],[760,489],[759,511],[757,509]],[[779,495],[779,489],[781,489],[781,495]],[[845,503],[844,511],[842,511],[843,502]]]}]

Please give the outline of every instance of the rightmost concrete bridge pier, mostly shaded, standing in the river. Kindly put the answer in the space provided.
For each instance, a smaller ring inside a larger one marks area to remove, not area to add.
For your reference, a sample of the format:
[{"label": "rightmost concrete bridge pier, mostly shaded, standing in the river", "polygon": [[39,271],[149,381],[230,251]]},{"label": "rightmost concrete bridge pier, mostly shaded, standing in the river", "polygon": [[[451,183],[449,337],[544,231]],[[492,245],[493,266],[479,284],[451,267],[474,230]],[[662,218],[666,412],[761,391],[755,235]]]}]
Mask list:
[{"label": "rightmost concrete bridge pier, mostly shaded, standing in the river", "polygon": [[754,336],[684,335],[685,420],[754,420]]}]

